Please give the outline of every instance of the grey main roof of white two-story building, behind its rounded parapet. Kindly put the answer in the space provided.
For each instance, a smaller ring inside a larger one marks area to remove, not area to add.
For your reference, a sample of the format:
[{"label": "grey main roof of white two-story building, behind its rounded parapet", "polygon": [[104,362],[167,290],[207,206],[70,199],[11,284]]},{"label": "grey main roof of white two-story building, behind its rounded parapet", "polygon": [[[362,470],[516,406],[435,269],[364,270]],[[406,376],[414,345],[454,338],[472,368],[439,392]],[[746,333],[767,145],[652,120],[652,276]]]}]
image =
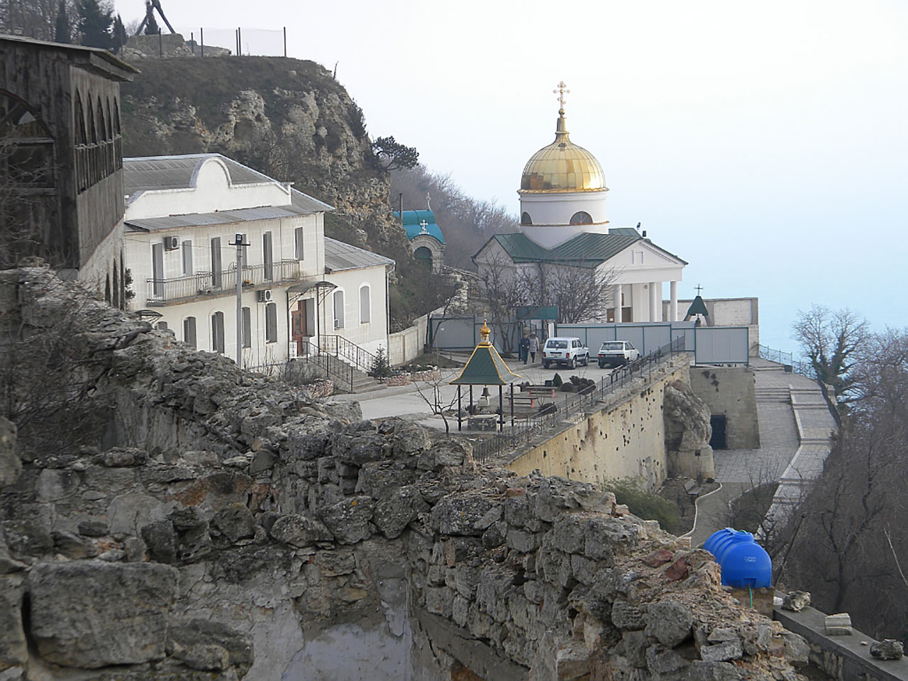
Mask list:
[{"label": "grey main roof of white two-story building, behind its rounded parapet", "polygon": [[[174,156],[137,156],[123,159],[123,192],[133,197],[140,192],[192,189],[202,163],[218,159],[227,168],[232,185],[283,184],[220,153],[187,153]],[[298,211],[333,211],[327,203],[291,189],[291,204]]]}]

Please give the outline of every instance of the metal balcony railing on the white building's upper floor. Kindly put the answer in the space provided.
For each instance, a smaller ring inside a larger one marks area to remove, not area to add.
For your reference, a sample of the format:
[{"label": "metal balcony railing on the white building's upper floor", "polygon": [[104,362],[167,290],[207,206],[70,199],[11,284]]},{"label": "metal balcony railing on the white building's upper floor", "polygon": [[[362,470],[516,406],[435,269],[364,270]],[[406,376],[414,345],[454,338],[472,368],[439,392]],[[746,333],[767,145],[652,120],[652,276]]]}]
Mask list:
[{"label": "metal balcony railing on the white building's upper floor", "polygon": [[[243,287],[258,288],[300,279],[300,262],[283,260],[270,265],[242,268]],[[221,272],[202,271],[172,279],[149,279],[147,304],[150,307],[182,302],[192,298],[231,295],[236,291],[236,267]]]}]

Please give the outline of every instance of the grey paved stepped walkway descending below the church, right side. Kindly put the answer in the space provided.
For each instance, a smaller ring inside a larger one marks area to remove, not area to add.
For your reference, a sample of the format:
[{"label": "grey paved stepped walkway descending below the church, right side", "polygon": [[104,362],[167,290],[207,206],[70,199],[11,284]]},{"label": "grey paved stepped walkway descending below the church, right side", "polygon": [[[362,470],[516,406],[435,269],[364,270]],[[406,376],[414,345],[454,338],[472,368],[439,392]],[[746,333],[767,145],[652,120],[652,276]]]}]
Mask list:
[{"label": "grey paved stepped walkway descending below the church, right side", "polygon": [[[811,478],[815,478],[822,473],[829,453],[829,433],[835,424],[816,383],[798,374],[785,373],[782,365],[774,362],[755,359],[751,360],[751,366],[755,370],[760,448],[714,452],[716,480],[722,483],[722,488],[697,499],[696,525],[691,530],[694,546],[728,526],[732,499],[766,482],[785,481],[797,475],[795,470],[810,469]],[[804,432],[799,432],[799,423]],[[807,441],[806,434],[816,439]],[[799,483],[803,481],[798,479]],[[783,482],[779,487],[789,486]]]}]

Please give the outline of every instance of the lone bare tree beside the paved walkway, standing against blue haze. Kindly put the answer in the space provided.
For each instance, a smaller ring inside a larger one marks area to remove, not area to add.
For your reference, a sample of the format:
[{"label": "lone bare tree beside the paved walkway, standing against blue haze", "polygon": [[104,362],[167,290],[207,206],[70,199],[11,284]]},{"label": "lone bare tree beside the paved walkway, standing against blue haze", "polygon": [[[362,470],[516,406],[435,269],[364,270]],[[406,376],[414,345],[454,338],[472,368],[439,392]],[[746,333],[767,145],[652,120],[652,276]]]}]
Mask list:
[{"label": "lone bare tree beside the paved walkway, standing against blue haze", "polygon": [[835,400],[844,409],[855,400],[851,370],[869,334],[867,321],[847,308],[831,311],[813,305],[798,312],[792,331],[816,377],[833,387]]}]

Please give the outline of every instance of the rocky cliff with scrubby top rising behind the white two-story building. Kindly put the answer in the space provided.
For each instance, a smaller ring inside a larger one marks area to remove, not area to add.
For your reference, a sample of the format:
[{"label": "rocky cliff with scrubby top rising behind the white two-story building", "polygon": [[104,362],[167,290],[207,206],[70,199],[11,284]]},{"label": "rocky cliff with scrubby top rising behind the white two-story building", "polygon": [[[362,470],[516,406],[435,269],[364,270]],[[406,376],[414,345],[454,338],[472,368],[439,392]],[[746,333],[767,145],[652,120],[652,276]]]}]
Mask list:
[{"label": "rocky cliff with scrubby top rising behind the white two-story building", "polygon": [[331,203],[373,250],[402,235],[390,179],[373,163],[360,107],[298,59],[137,59],[123,84],[123,154],[223,153]]}]

